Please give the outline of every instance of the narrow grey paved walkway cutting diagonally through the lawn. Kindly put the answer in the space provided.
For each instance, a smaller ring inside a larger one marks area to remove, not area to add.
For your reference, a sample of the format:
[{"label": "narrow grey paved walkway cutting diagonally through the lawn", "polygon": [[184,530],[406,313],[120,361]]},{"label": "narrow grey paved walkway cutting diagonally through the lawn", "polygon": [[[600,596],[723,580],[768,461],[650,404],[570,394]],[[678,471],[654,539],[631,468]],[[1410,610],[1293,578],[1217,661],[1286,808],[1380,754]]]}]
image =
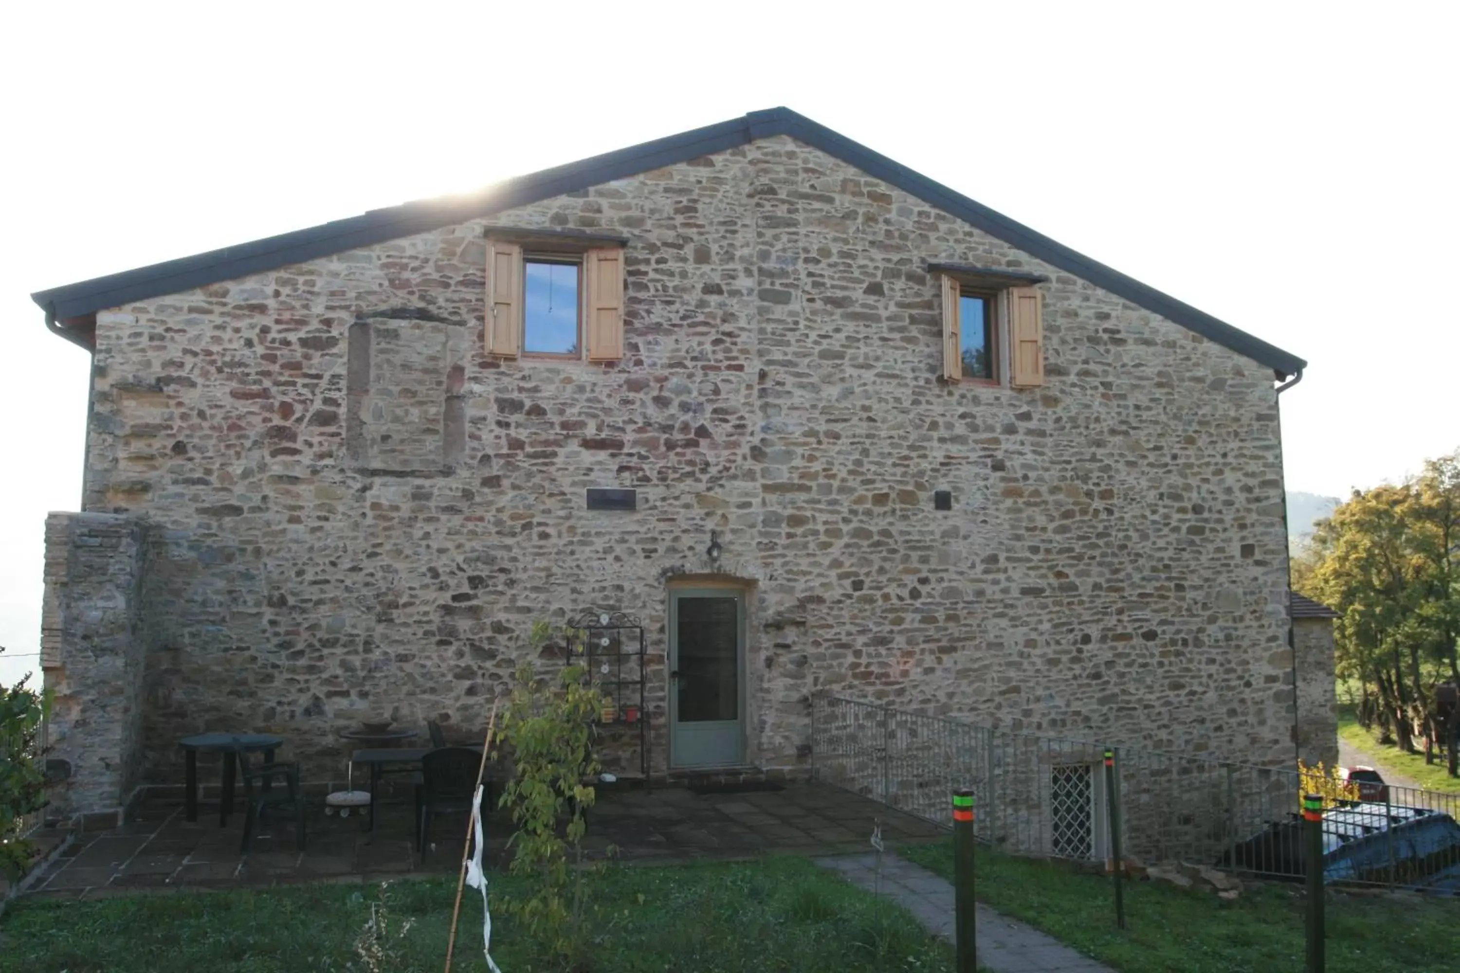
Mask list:
[{"label": "narrow grey paved walkway cutting diagonally through the lawn", "polygon": [[[929,932],[953,941],[953,885],[945,878],[891,853],[882,855],[880,877],[876,855],[818,858],[816,864],[841,872],[858,888],[892,899]],[[991,973],[1111,973],[1108,966],[988,906],[978,906],[978,966]]]}]

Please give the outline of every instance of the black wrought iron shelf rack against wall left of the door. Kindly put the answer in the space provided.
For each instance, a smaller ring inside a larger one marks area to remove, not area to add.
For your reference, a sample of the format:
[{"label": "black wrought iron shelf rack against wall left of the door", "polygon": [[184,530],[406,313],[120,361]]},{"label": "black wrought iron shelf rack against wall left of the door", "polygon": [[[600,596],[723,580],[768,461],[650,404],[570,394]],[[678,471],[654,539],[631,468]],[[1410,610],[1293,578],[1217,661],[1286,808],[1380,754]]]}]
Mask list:
[{"label": "black wrought iron shelf rack against wall left of the door", "polygon": [[[600,713],[599,732],[638,731],[638,779],[648,786],[650,726],[644,705],[644,623],[622,611],[584,611],[568,621],[564,665],[583,665],[588,680],[609,699]],[[612,772],[618,773],[618,772]],[[620,779],[629,775],[618,773]]]}]

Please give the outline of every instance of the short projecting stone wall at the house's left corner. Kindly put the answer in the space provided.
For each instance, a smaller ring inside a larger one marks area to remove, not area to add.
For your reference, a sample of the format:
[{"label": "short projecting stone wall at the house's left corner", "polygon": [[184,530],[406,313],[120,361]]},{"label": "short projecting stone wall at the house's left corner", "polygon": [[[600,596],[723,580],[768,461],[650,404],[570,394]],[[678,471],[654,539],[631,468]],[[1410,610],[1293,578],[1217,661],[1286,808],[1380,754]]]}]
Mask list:
[{"label": "short projecting stone wall at the house's left corner", "polygon": [[45,521],[48,761],[66,769],[50,792],[48,818],[120,823],[143,782],[143,527],[131,516],[51,513]]}]

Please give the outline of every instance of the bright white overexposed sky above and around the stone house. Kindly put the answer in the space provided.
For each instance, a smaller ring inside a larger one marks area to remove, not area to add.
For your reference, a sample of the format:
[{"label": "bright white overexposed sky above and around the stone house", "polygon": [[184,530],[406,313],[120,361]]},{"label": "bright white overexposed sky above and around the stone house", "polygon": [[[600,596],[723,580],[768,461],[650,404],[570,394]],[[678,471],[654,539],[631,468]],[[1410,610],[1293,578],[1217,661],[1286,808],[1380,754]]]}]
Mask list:
[{"label": "bright white overexposed sky above and around the stone house", "polygon": [[[1310,360],[1288,487],[1460,445],[1460,4],[13,4],[0,683],[80,502],[29,292],[787,105]],[[593,20],[599,18],[599,20]]]}]

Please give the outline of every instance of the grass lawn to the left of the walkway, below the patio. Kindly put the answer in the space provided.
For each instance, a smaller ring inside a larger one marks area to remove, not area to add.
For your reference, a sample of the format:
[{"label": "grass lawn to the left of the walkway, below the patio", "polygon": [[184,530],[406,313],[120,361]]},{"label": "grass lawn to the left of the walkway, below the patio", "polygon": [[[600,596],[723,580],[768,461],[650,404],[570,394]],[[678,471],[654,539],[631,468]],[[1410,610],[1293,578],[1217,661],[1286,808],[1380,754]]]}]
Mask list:
[{"label": "grass lawn to the left of the walkway, below the patio", "polygon": [[[491,877],[511,894],[523,885]],[[616,867],[591,878],[593,970],[953,969],[952,950],[901,909],[806,859],[667,868]],[[364,970],[353,942],[378,885],[317,884],[99,902],[10,903],[0,919],[9,973]],[[390,929],[412,920],[388,973],[439,970],[456,878],[393,883]],[[493,900],[495,902],[495,900]],[[492,958],[504,973],[550,970],[493,906]],[[480,893],[461,904],[453,969],[483,970]]]}]

